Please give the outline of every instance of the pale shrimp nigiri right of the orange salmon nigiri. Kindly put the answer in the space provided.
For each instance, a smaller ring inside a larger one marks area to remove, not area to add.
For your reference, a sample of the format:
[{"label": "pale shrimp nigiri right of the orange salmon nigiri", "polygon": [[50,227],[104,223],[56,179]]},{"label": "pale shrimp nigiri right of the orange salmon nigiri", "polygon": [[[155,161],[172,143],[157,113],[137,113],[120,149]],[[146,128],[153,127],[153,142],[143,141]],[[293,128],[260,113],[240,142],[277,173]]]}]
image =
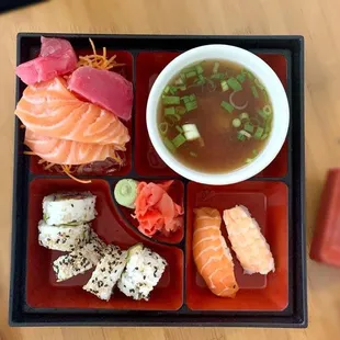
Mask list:
[{"label": "pale shrimp nigiri right of the orange salmon nigiri", "polygon": [[245,273],[268,274],[275,271],[274,259],[260,227],[247,207],[237,205],[224,211],[228,237]]}]

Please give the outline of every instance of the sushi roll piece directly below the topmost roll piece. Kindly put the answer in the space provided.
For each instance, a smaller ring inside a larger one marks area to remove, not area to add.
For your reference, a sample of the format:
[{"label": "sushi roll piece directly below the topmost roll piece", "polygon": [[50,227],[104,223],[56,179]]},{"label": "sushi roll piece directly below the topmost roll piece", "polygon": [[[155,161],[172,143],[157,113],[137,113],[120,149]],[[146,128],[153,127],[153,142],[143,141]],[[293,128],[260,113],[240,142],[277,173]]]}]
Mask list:
[{"label": "sushi roll piece directly below the topmost roll piece", "polygon": [[49,226],[45,220],[41,220],[38,230],[39,245],[59,251],[73,251],[84,246],[90,238],[89,224],[80,224],[78,226]]}]

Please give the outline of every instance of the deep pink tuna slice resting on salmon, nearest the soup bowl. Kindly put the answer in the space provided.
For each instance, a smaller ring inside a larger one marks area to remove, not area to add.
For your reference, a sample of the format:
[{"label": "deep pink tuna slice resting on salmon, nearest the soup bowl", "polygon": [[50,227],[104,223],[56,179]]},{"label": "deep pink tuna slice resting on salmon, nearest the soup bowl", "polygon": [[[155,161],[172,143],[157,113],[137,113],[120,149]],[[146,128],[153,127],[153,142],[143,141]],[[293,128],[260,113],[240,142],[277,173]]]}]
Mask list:
[{"label": "deep pink tuna slice resting on salmon, nearest the soup bowl", "polygon": [[68,80],[68,88],[89,102],[128,121],[133,109],[133,84],[121,75],[92,67],[80,67]]}]

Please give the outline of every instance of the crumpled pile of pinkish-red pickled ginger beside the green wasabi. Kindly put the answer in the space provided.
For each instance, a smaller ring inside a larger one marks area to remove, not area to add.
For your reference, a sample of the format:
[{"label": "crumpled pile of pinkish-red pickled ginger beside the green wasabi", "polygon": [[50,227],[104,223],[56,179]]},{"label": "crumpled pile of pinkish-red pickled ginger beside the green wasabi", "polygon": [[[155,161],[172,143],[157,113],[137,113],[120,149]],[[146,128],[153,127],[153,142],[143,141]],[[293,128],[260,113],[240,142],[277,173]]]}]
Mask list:
[{"label": "crumpled pile of pinkish-red pickled ginger beside the green wasabi", "polygon": [[163,235],[183,227],[183,208],[175,204],[167,193],[172,181],[163,184],[140,182],[137,188],[135,217],[138,230],[146,236],[157,231]]}]

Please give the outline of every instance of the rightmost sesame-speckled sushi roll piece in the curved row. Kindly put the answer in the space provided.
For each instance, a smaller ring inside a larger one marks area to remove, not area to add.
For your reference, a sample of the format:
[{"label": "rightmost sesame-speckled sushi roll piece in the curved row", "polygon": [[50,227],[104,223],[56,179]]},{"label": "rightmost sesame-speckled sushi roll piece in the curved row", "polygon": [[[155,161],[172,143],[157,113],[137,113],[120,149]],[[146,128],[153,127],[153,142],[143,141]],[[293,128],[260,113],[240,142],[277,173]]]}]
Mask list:
[{"label": "rightmost sesame-speckled sushi roll piece in the curved row", "polygon": [[135,245],[127,252],[127,264],[117,286],[128,297],[148,301],[166,267],[167,261],[158,253],[141,243]]}]

